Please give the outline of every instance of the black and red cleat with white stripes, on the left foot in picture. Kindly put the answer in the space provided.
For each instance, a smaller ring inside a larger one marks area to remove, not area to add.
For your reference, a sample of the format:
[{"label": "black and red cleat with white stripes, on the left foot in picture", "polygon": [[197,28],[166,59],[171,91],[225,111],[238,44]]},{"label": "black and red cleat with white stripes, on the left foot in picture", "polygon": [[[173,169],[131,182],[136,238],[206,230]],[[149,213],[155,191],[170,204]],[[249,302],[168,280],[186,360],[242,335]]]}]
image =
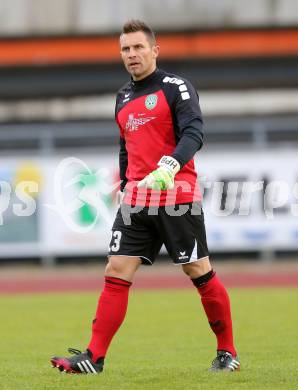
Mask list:
[{"label": "black and red cleat with white stripes, on the left foot in picture", "polygon": [[69,353],[73,353],[71,357],[51,358],[53,368],[58,368],[61,372],[69,374],[98,374],[103,370],[104,358],[97,359],[97,362],[92,361],[92,353],[87,349],[85,352],[77,349],[68,348]]}]

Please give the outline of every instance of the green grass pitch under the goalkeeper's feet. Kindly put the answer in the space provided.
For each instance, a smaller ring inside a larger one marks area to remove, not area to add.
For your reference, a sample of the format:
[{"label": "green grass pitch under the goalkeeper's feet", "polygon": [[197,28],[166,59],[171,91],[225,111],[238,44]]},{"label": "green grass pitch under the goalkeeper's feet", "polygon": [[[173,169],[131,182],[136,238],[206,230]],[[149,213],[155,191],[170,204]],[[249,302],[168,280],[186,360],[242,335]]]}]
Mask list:
[{"label": "green grass pitch under the goalkeeper's feet", "polygon": [[298,289],[230,293],[240,372],[208,372],[215,340],[194,290],[132,290],[96,376],[61,374],[49,362],[86,346],[96,293],[1,296],[0,389],[297,389]]}]

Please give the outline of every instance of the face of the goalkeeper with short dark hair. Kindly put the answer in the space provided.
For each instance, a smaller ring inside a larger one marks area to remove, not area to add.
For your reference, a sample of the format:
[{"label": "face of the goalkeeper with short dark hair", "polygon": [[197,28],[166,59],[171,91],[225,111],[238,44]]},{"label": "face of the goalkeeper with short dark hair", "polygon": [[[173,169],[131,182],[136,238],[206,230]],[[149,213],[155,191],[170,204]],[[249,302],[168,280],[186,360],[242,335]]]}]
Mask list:
[{"label": "face of the goalkeeper with short dark hair", "polygon": [[159,48],[142,31],[122,34],[120,48],[125,68],[133,80],[142,80],[154,72]]}]

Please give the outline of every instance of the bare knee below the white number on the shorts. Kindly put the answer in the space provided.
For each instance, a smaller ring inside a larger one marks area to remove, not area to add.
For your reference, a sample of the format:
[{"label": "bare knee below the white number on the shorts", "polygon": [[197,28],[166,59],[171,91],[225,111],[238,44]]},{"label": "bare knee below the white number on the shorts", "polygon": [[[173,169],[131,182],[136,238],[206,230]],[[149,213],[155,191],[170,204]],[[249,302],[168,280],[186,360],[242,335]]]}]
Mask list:
[{"label": "bare knee below the white number on the shorts", "polygon": [[141,259],[139,257],[110,256],[105,269],[105,276],[112,276],[131,282],[140,264]]}]

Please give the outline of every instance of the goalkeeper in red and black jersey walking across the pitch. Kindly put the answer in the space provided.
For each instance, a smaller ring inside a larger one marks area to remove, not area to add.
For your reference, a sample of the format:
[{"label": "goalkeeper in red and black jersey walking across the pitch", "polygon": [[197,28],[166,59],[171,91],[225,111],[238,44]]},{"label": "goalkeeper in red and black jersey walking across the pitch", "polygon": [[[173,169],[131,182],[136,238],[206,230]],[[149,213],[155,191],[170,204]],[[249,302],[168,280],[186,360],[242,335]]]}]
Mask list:
[{"label": "goalkeeper in red and black jersey walking across the pitch", "polygon": [[123,203],[112,228],[89,345],[84,352],[70,350],[72,357],[52,358],[52,364],[72,373],[102,371],[110,342],[125,318],[134,275],[142,263],[154,263],[164,244],[197,289],[216,336],[211,370],[238,370],[229,297],[209,261],[194,167],[194,154],[203,145],[198,95],[187,80],[156,67],[159,47],[145,23],[132,20],[124,25],[120,49],[131,75],[118,92],[115,110]]}]

